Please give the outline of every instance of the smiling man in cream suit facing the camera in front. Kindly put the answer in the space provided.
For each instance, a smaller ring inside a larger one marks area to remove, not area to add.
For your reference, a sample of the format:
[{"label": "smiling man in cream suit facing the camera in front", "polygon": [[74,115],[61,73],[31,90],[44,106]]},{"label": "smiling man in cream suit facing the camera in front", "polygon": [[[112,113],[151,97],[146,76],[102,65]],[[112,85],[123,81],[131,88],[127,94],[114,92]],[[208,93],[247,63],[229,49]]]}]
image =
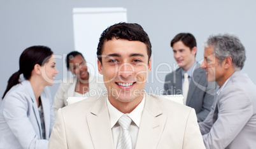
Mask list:
[{"label": "smiling man in cream suit facing the camera in front", "polygon": [[151,48],[139,24],[103,31],[97,65],[107,95],[59,109],[49,148],[205,148],[194,109],[146,94]]}]

